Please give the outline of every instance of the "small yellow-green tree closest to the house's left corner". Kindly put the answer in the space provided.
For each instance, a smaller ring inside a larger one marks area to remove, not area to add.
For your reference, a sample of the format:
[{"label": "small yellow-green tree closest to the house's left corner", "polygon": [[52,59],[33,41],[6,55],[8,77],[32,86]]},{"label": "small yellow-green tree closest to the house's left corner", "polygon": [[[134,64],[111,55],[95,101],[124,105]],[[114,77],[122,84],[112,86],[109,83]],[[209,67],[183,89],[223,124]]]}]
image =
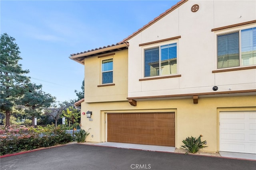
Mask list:
[{"label": "small yellow-green tree closest to the house's left corner", "polygon": [[66,121],[68,121],[69,124],[71,123],[74,136],[74,130],[80,124],[80,111],[70,106],[66,111],[62,111],[62,113],[67,118]]}]

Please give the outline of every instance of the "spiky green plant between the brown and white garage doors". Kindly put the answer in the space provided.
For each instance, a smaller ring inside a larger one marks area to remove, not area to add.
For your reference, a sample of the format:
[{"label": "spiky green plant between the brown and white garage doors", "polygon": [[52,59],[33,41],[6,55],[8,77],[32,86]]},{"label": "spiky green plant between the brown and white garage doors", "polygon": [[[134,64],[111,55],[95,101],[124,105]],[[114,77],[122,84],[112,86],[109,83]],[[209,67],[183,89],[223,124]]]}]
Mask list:
[{"label": "spiky green plant between the brown and white garage doors", "polygon": [[196,153],[198,152],[198,150],[206,147],[203,146],[206,141],[201,141],[201,137],[202,135],[200,135],[198,139],[192,136],[187,137],[185,140],[182,141],[184,145],[182,145],[181,147],[188,150],[190,153]]}]

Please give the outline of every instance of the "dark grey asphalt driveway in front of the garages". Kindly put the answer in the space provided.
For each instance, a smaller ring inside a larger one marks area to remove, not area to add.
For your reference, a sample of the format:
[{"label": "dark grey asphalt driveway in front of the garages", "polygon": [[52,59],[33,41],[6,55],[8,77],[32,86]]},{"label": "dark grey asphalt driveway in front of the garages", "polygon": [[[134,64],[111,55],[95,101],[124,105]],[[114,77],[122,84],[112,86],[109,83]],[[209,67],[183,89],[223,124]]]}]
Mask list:
[{"label": "dark grey asphalt driveway in front of the garages", "polygon": [[255,170],[256,161],[70,144],[1,158],[1,170]]}]

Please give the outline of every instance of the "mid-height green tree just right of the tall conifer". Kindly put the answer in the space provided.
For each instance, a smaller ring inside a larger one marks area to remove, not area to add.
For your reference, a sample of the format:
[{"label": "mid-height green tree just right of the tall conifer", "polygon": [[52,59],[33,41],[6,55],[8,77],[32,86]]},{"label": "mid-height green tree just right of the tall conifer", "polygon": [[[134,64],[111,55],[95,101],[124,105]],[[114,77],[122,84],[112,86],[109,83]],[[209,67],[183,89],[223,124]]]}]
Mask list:
[{"label": "mid-height green tree just right of the tall conifer", "polygon": [[20,100],[25,106],[25,113],[32,116],[32,126],[35,127],[35,117],[42,113],[42,109],[48,108],[55,101],[55,97],[42,92],[42,85],[28,84],[28,91]]}]

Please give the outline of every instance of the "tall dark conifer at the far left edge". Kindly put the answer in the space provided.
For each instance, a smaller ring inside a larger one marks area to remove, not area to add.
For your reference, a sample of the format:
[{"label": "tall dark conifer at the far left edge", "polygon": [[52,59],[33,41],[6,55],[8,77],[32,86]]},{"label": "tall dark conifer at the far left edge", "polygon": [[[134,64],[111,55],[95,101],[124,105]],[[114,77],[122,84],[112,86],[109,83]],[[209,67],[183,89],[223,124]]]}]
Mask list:
[{"label": "tall dark conifer at the far left edge", "polygon": [[6,114],[6,126],[10,126],[10,114],[16,100],[23,94],[23,86],[29,82],[22,70],[22,59],[15,39],[4,33],[0,37],[0,109]]}]

